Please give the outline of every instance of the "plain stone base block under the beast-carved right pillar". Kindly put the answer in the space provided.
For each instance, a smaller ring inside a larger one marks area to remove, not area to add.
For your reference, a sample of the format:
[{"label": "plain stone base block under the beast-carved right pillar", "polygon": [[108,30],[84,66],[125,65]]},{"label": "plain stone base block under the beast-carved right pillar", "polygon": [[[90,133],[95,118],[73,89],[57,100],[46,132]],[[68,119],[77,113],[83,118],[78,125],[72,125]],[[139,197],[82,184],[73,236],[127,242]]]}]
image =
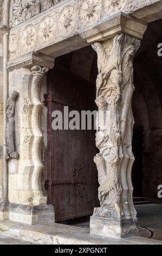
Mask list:
[{"label": "plain stone base block under the beast-carved right pillar", "polygon": [[134,221],[119,221],[113,218],[90,217],[90,234],[121,239],[138,234]]}]

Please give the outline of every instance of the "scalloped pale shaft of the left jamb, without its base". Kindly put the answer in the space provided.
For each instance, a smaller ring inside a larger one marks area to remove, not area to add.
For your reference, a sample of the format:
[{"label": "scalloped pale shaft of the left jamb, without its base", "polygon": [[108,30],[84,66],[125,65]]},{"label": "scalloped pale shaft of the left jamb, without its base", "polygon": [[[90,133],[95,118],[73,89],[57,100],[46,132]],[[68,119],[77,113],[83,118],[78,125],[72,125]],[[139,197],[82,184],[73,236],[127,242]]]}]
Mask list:
[{"label": "scalloped pale shaft of the left jamb, without its base", "polygon": [[[20,159],[9,162],[9,201],[12,204],[47,204],[41,185],[43,134],[40,127],[40,86],[48,68],[34,65],[10,72],[11,86],[20,94],[16,105],[17,145]],[[13,74],[12,74],[13,73]],[[13,79],[13,77],[15,77]],[[19,81],[19,82],[18,82]],[[19,139],[20,137],[20,139]]]}]

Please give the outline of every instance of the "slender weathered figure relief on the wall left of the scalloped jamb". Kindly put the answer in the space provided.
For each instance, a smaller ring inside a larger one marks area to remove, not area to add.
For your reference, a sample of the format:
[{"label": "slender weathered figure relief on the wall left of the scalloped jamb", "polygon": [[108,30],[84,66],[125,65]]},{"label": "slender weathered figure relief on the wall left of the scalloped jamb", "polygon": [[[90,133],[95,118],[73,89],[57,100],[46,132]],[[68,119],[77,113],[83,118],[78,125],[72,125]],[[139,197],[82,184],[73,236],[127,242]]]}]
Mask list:
[{"label": "slender weathered figure relief on the wall left of the scalloped jamb", "polygon": [[5,128],[5,141],[6,141],[6,155],[5,159],[18,159],[19,154],[16,151],[15,145],[15,105],[18,97],[17,92],[13,92],[7,101],[6,107],[6,120],[7,125]]}]

